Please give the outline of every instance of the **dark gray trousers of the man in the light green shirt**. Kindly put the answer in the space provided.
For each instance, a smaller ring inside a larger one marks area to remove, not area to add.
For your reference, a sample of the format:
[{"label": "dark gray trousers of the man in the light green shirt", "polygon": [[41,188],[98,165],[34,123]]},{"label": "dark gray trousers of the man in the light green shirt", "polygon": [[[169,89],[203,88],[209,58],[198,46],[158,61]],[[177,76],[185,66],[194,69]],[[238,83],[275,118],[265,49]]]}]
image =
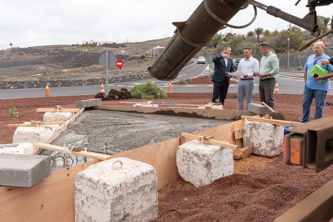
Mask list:
[{"label": "dark gray trousers of the man in the light green shirt", "polygon": [[274,109],[273,95],[275,89],[275,78],[259,80],[260,101],[266,103],[270,108]]}]

